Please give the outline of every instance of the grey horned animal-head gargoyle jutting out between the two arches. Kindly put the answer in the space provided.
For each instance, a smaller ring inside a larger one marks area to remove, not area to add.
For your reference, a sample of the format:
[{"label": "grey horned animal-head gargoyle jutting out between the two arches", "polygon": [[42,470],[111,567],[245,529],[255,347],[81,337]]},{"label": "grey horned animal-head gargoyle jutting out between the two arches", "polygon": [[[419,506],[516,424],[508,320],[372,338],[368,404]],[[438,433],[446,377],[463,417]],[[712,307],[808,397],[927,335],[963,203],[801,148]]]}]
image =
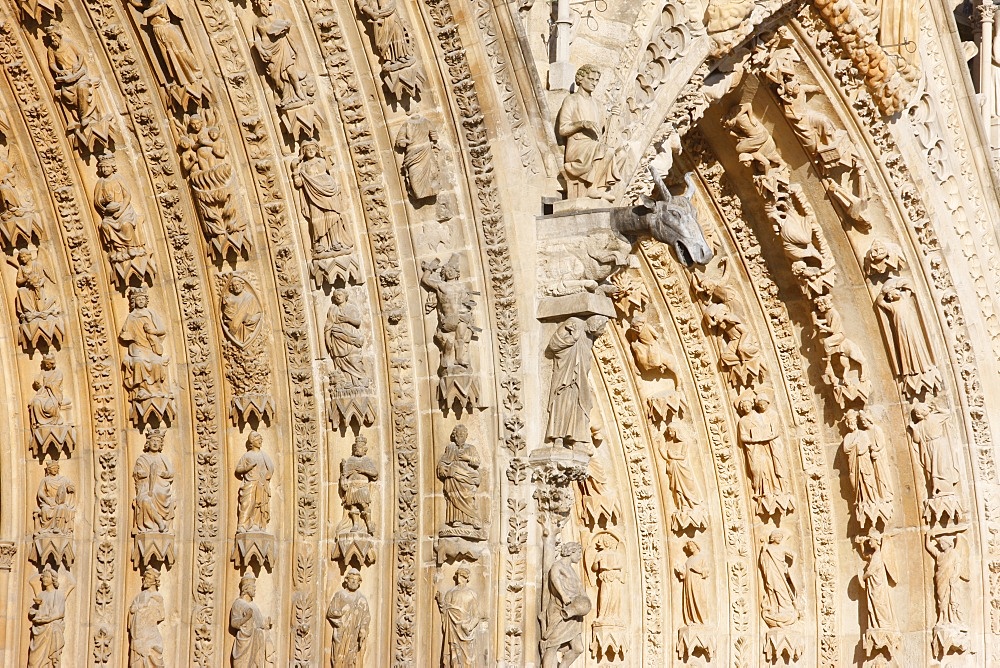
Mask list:
[{"label": "grey horned animal-head gargoyle jutting out between the two arches", "polygon": [[671,195],[663,176],[649,166],[653,183],[663,199],[643,197],[642,204],[627,209],[618,209],[613,216],[613,225],[622,234],[650,234],[659,242],[669,244],[677,254],[681,264],[707,264],[714,254],[712,246],[698,225],[698,216],[691,203],[694,195],[694,179],[690,172],[684,175],[687,190],[683,195]]}]

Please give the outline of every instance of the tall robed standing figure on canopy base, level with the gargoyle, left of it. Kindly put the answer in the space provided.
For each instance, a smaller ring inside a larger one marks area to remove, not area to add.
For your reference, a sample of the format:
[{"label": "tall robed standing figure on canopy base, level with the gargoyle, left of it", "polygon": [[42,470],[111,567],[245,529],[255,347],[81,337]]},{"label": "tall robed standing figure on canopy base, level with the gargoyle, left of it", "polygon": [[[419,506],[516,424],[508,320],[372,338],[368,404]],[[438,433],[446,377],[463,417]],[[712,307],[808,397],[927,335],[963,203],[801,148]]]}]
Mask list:
[{"label": "tall robed standing figure on canopy base, level with the gargoyle, left of it", "polygon": [[316,141],[299,146],[292,163],[292,183],[299,191],[299,211],[309,222],[312,239],[312,274],[317,284],[363,283],[354,255],[354,239],[342,213],[340,183],[333,161]]}]

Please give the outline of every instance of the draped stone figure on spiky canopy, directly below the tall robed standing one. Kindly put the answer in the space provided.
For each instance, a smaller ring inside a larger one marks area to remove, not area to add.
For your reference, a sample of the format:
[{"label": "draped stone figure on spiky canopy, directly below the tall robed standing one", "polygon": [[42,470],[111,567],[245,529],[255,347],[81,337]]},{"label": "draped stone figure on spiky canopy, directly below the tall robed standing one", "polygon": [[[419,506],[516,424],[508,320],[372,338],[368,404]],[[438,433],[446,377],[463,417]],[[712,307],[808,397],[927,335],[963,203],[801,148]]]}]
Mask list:
[{"label": "draped stone figure on spiky canopy, directly below the tall robed standing one", "polygon": [[361,358],[365,344],[361,309],[351,304],[349,298],[344,288],[333,291],[323,326],[323,339],[333,366],[328,385],[328,417],[334,428],[346,428],[352,422],[359,426],[375,423],[375,392]]}]

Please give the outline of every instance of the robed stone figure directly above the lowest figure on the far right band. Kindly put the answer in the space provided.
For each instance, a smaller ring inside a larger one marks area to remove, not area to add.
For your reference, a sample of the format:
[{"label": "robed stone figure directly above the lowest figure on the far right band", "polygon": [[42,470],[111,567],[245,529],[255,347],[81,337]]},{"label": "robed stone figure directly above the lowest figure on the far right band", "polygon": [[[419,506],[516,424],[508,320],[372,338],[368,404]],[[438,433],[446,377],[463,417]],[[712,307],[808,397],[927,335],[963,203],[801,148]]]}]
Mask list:
[{"label": "robed stone figure directly above the lowest figure on the far right band", "polygon": [[948,414],[936,406],[917,403],[910,411],[910,440],[917,450],[927,484],[924,519],[961,522],[965,516],[961,501],[959,455],[948,438]]}]

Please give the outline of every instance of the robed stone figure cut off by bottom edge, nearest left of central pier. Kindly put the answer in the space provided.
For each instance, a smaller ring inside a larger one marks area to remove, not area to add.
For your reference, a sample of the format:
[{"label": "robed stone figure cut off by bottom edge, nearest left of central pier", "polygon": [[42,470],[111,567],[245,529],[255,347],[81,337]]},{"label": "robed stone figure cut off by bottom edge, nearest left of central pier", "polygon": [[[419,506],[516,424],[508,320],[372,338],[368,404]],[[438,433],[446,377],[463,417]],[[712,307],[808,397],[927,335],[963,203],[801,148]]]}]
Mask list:
[{"label": "robed stone figure cut off by bottom edge, nearest left of central pier", "polygon": [[455,571],[455,586],[444,594],[437,592],[434,599],[441,612],[441,666],[442,668],[480,668],[485,666],[477,649],[479,625],[486,621],[479,612],[479,597],[469,586],[471,573],[468,568]]}]

